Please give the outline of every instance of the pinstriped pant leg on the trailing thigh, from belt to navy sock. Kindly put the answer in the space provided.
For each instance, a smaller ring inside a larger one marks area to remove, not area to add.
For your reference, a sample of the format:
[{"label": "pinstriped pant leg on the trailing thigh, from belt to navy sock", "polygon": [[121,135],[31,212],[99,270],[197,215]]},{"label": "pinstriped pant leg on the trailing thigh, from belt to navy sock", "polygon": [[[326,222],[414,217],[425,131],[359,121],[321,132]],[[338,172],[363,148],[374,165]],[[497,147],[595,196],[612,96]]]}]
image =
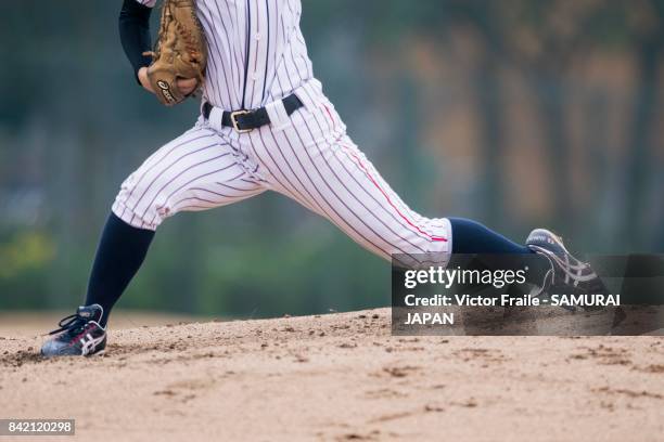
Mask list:
[{"label": "pinstriped pant leg on the trailing thigh, from belt to navy sock", "polygon": [[325,217],[368,250],[408,264],[445,263],[451,250],[449,221],[410,209],[353,141],[324,102],[296,112],[293,126],[264,133],[268,165],[280,192]]}]

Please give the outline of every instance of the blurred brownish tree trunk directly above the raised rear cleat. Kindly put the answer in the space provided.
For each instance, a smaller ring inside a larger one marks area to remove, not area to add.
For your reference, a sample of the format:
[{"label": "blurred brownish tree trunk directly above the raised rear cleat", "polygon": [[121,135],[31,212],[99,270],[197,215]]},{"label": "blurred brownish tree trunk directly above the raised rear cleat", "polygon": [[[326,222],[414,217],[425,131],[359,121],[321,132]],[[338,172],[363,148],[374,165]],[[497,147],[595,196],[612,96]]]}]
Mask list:
[{"label": "blurred brownish tree trunk directly above the raised rear cleat", "polygon": [[[514,0],[511,6],[502,9],[497,21],[502,26],[506,54],[523,73],[539,112],[554,223],[578,237],[583,224],[565,222],[578,219],[578,198],[571,178],[567,114],[572,91],[566,74],[579,53],[596,43],[588,31],[595,16],[612,6],[596,0]],[[588,181],[597,179],[588,177]]]}]

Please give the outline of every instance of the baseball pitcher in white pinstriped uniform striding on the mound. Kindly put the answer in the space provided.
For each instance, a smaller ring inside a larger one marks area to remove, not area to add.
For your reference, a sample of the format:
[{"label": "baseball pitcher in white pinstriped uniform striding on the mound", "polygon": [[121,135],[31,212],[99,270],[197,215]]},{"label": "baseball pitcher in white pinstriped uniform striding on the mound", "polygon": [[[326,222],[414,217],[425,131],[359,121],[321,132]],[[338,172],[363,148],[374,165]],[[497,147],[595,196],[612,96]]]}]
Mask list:
[{"label": "baseball pitcher in white pinstriped uniform striding on the mound", "polygon": [[[200,89],[201,114],[122,184],[85,306],[51,333],[44,356],[104,350],[108,314],[167,218],[266,191],[295,199],[367,250],[386,260],[398,255],[408,266],[447,265],[452,253],[509,253],[528,259],[528,274],[542,288],[596,282],[592,270],[549,231],[536,230],[520,245],[470,220],[425,218],[410,209],[348,136],[314,76],[299,29],[301,0],[165,1],[170,12],[162,15],[157,54],[148,54],[156,0],[124,0],[122,44],[144,91],[175,104]],[[155,80],[155,65],[173,49],[165,41],[175,27],[164,20],[181,15],[177,8],[193,8],[201,32],[197,38],[192,28],[180,36],[187,48],[180,58],[195,66],[205,62],[204,72]],[[199,40],[204,47],[196,50]]]}]

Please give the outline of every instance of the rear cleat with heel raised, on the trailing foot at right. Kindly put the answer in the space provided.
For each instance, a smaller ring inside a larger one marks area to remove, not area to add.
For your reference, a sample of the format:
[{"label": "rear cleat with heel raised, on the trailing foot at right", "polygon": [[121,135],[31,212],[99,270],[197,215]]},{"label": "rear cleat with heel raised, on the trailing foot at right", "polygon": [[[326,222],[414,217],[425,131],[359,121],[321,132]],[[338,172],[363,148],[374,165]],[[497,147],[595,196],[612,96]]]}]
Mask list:
[{"label": "rear cleat with heel raised, on the trailing foot at right", "polygon": [[604,283],[590,264],[583,262],[565,248],[562,238],[546,229],[534,230],[526,239],[526,246],[548,259],[551,269],[544,276],[542,292],[558,295],[606,295]]}]

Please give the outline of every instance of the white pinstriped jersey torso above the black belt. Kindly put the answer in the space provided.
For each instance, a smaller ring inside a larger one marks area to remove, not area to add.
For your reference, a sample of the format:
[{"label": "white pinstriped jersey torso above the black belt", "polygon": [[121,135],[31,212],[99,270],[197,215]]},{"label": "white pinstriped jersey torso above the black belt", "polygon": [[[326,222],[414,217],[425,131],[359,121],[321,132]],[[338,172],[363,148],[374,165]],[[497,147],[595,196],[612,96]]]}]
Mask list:
[{"label": "white pinstriped jersey torso above the black belt", "polygon": [[197,0],[196,8],[209,47],[205,101],[227,110],[253,109],[312,79],[299,0]]}]

